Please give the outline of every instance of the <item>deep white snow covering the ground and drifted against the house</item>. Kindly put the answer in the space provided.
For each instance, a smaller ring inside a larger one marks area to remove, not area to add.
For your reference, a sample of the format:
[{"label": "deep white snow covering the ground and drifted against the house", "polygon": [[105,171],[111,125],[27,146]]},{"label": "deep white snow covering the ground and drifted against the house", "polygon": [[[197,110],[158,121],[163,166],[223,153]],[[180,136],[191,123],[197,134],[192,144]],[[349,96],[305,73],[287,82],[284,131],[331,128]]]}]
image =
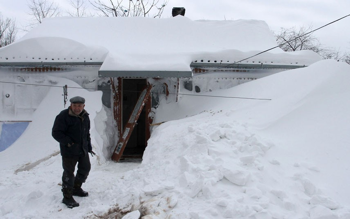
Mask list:
[{"label": "deep white snow covering the ground and drifted against the house", "polygon": [[101,93],[72,91],[87,98],[99,155],[83,184],[89,196],[73,209],[61,203],[51,127],[62,90],[51,88],[24,134],[0,152],[0,216],[350,218],[349,72],[323,60],[208,93],[271,100],[183,96],[162,104],[155,122],[168,122],[153,129],[142,163],[109,160]]}]

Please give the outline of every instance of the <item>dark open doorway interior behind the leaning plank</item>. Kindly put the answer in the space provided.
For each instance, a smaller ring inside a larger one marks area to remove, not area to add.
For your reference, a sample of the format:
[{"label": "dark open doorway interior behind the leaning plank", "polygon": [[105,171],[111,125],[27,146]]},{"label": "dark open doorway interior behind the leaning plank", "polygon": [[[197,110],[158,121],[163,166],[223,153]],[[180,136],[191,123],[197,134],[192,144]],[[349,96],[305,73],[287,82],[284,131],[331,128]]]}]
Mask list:
[{"label": "dark open doorway interior behind the leaning plank", "polygon": [[[146,79],[124,79],[122,80],[122,130],[136,105],[136,102],[147,86]],[[146,148],[146,107],[142,109],[137,124],[131,133],[123,152],[124,158],[141,158]]]}]

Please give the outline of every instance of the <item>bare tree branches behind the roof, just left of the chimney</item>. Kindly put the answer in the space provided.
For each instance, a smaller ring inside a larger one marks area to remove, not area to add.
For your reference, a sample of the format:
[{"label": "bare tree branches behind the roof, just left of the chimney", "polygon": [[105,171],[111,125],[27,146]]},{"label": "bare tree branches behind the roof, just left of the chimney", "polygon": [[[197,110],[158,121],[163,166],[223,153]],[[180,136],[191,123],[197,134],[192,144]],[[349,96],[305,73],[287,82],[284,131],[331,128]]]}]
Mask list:
[{"label": "bare tree branches behind the roof, just left of the chimney", "polygon": [[169,0],[108,0],[108,3],[103,0],[89,1],[102,16],[160,17]]}]

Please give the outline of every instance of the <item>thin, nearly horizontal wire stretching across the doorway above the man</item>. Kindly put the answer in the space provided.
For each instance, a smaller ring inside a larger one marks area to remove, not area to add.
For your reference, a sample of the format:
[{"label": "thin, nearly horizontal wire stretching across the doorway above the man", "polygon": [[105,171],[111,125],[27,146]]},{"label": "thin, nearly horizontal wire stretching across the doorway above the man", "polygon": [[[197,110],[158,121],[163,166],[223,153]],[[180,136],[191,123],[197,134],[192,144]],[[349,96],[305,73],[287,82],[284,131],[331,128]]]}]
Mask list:
[{"label": "thin, nearly horizontal wire stretching across the doorway above the man", "polygon": [[[34,84],[34,83],[19,83],[19,82],[10,82],[10,81],[0,81],[0,83],[11,83],[11,84],[22,84],[22,85],[32,85],[32,86],[49,86],[49,87],[64,87],[59,85],[46,85],[46,84]],[[109,90],[113,91],[112,89],[107,88],[84,88],[84,87],[74,87],[70,86],[68,88],[74,88],[74,89],[92,89],[92,90]],[[124,90],[124,92],[141,92],[141,91],[133,91],[133,90]],[[152,92],[152,93],[159,93],[160,92]],[[204,94],[190,94],[190,93],[169,93],[174,95],[187,95],[187,96],[207,96],[207,97],[221,97],[221,98],[238,98],[238,99],[256,99],[256,100],[271,100],[269,98],[252,98],[252,97],[240,97],[240,96],[219,96],[219,95],[204,95]]]}]

